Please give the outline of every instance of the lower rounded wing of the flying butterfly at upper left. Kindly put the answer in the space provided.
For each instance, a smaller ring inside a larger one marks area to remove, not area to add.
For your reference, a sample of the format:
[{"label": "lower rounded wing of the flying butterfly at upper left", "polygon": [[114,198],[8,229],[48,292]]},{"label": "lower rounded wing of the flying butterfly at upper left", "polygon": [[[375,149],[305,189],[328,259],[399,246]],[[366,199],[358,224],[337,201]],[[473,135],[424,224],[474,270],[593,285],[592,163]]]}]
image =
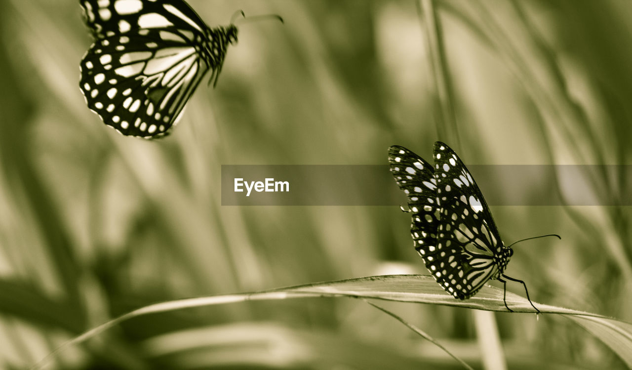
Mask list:
[{"label": "lower rounded wing of the flying butterfly at upper left", "polygon": [[198,47],[166,28],[99,39],[81,64],[88,108],[125,135],[165,135],[209,70]]}]

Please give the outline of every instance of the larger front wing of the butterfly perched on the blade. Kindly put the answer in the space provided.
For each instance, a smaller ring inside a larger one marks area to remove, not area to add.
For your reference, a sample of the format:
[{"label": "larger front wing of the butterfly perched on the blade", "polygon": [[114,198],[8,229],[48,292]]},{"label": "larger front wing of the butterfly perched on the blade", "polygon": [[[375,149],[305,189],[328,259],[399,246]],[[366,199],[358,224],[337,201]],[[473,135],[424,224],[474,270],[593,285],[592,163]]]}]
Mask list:
[{"label": "larger front wing of the butterfly perched on the blade", "polygon": [[[470,171],[442,142],[434,146],[440,221],[432,273],[458,299],[474,295],[508,262],[489,207]],[[504,259],[506,258],[506,259]]]}]

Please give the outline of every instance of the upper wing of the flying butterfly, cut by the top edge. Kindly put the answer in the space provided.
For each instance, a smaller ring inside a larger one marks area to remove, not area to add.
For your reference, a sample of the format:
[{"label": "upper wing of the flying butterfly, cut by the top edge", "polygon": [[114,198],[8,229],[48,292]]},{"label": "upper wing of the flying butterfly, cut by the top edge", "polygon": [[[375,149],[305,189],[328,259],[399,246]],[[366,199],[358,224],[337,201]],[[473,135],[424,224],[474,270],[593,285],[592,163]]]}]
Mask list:
[{"label": "upper wing of the flying butterfly, cut by the top edge", "polygon": [[183,0],[80,0],[80,4],[95,39],[143,28],[174,28],[204,36],[208,28]]}]

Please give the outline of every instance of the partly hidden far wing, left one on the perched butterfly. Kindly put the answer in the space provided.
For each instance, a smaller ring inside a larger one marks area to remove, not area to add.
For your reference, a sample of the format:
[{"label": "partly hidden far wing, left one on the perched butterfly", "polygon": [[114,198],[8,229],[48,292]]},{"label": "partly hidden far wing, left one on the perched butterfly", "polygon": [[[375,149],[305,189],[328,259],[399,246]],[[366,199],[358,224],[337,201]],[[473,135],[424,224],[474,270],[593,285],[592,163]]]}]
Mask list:
[{"label": "partly hidden far wing, left one on the perched butterfly", "polygon": [[410,233],[415,249],[429,269],[433,258],[428,256],[434,254],[439,226],[434,170],[422,157],[399,145],[389,148],[389,163],[399,188],[408,196],[413,216]]}]

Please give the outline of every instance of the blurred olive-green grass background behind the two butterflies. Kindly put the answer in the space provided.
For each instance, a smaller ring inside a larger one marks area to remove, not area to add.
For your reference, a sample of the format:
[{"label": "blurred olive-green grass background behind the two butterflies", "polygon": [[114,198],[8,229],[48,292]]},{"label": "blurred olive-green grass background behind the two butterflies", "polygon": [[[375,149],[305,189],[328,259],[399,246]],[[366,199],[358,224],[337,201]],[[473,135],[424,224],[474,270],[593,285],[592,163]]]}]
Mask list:
[{"label": "blurred olive-green grass background behind the two butterflies", "polygon": [[[438,28],[412,0],[190,4],[212,26],[236,9],[286,23],[241,25],[217,89],[200,87],[173,135],[147,142],[85,106],[78,63],[91,40],[77,1],[0,3],[1,366],[28,366],[160,300],[427,273],[398,207],[222,207],[221,164],[386,164],[389,145],[429,158],[437,139],[458,142],[468,164],[632,164],[629,2],[434,1]],[[429,42],[442,46],[442,72]],[[611,200],[630,187],[620,172],[585,180]],[[562,235],[516,245],[506,273],[535,302],[632,321],[629,207],[492,211],[506,243]],[[385,306],[482,366],[471,311]],[[624,368],[563,318],[495,317],[511,369]],[[56,366],[459,368],[382,312],[334,299],[138,318]]]}]

